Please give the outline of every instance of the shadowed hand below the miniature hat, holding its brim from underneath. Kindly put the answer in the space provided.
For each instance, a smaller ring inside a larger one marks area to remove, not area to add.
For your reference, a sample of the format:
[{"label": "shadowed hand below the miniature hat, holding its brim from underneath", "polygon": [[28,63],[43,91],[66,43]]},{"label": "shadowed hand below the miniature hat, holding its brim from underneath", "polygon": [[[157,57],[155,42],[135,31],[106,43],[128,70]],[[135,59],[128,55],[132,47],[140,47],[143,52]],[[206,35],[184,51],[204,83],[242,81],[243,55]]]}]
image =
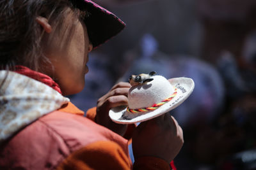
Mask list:
[{"label": "shadowed hand below the miniature hat, holding its brim from underneath", "polygon": [[170,113],[141,122],[132,136],[134,159],[143,156],[158,157],[171,162],[184,143],[183,132]]}]

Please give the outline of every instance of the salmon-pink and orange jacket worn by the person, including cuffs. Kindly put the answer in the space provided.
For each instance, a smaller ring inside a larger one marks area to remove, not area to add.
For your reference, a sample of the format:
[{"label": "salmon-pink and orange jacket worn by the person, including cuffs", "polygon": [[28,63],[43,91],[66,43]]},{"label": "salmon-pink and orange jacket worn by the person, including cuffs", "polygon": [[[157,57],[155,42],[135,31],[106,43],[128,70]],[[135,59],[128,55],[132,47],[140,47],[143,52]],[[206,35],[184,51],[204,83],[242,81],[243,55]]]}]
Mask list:
[{"label": "salmon-pink and orange jacket worn by the person, including cuffs", "polygon": [[26,126],[1,145],[0,169],[170,169],[156,157],[132,166],[127,139],[90,120],[95,110],[81,115],[68,103]]}]

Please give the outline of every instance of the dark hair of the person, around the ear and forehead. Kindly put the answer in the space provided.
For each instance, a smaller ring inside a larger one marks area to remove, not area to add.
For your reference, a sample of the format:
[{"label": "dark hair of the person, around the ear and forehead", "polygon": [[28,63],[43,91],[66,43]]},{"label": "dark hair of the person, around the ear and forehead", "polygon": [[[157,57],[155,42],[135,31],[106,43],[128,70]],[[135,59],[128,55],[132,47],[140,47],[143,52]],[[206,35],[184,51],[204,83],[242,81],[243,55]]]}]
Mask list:
[{"label": "dark hair of the person, around the ear and forehead", "polygon": [[58,27],[68,8],[84,15],[68,0],[1,0],[0,69],[19,64],[38,71],[40,62],[49,62],[42,52],[44,31],[36,17],[45,17]]}]

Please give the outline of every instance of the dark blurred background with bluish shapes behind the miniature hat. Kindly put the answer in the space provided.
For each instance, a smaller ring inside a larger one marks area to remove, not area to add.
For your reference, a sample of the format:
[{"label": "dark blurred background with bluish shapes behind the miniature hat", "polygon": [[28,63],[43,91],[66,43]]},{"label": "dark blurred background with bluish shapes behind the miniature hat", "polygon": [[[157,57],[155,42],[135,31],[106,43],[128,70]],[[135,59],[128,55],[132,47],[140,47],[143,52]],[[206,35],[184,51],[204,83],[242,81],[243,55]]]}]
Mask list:
[{"label": "dark blurred background with bluish shapes behind the miniature hat", "polygon": [[171,114],[184,131],[177,169],[256,169],[256,1],[95,1],[127,24],[90,53],[81,110],[131,74],[193,78]]}]

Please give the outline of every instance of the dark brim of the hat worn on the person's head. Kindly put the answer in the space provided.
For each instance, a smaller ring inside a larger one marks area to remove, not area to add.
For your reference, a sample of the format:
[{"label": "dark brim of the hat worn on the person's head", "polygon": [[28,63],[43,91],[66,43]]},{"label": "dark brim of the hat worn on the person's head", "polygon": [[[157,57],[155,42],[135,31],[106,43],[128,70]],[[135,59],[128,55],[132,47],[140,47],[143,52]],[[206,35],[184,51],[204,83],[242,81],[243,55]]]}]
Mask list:
[{"label": "dark brim of the hat worn on the person's head", "polygon": [[79,0],[75,1],[75,4],[79,10],[86,10],[89,13],[88,17],[84,18],[84,24],[93,48],[108,41],[125,27],[125,23],[120,18],[93,1]]}]

